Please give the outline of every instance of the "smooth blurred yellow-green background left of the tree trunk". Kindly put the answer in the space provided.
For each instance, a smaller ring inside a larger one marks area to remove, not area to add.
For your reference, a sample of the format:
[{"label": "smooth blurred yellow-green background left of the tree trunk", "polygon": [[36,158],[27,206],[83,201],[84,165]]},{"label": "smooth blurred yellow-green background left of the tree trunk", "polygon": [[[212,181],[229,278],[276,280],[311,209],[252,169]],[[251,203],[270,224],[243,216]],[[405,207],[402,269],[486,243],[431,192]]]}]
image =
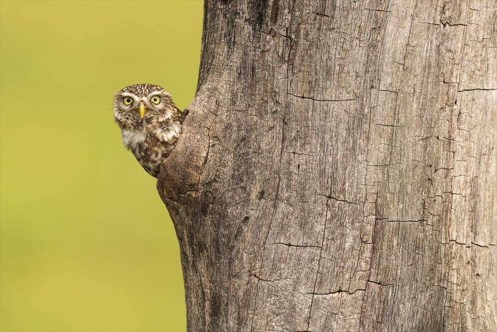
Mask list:
[{"label": "smooth blurred yellow-green background left of the tree trunk", "polygon": [[0,1],[0,331],[184,331],[174,227],[114,93],[197,82],[203,3]]}]

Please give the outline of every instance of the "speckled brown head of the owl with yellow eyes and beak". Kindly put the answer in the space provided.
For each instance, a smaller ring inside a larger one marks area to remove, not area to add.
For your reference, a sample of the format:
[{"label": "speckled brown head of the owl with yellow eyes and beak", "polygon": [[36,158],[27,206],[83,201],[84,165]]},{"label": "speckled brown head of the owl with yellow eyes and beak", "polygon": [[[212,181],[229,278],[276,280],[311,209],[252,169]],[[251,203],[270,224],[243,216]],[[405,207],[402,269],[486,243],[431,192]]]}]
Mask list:
[{"label": "speckled brown head of the owl with yellow eyes and beak", "polygon": [[171,116],[176,106],[171,95],[154,84],[134,84],[114,96],[114,119],[121,128],[141,128]]}]

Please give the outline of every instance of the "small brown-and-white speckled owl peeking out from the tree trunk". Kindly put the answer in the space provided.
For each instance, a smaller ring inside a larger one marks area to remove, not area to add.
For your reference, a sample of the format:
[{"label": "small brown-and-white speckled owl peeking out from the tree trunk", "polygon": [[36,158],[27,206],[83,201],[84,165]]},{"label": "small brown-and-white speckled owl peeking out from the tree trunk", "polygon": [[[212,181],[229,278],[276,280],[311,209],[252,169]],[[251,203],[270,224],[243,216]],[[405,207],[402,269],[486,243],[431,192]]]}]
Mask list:
[{"label": "small brown-and-white speckled owl peeking out from the tree trunk", "polygon": [[123,144],[154,177],[176,146],[186,114],[158,85],[130,85],[114,97],[114,119],[122,130]]}]

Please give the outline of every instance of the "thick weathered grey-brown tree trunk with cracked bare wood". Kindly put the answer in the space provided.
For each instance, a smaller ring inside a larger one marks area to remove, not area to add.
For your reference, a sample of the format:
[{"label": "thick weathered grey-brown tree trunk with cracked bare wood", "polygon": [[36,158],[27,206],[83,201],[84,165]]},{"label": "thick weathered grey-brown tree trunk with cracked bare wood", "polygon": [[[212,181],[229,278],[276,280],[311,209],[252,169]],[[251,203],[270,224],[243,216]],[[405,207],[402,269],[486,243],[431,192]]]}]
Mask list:
[{"label": "thick weathered grey-brown tree trunk with cracked bare wood", "polygon": [[497,331],[497,3],[206,0],[158,190],[189,331]]}]

